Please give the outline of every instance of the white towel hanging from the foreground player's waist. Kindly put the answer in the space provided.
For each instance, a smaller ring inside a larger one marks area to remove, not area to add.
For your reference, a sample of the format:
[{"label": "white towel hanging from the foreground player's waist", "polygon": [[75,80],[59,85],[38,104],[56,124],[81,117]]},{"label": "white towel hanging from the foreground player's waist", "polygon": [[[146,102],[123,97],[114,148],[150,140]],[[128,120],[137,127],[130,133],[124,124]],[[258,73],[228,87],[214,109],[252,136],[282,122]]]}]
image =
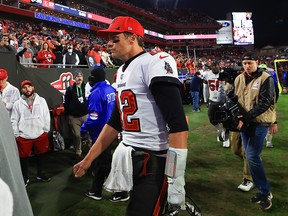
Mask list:
[{"label": "white towel hanging from the foreground player's waist", "polygon": [[131,191],[133,188],[133,165],[131,146],[119,143],[113,153],[111,171],[104,182],[104,188],[110,192]]}]

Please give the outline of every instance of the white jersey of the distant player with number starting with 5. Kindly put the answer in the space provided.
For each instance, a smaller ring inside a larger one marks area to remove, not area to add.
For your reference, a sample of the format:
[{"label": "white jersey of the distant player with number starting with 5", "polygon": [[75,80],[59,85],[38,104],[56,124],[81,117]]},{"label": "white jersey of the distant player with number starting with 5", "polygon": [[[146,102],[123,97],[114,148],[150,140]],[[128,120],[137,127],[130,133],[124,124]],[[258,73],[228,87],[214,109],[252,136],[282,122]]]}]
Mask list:
[{"label": "white jersey of the distant player with number starting with 5", "polygon": [[209,100],[214,102],[220,102],[223,100],[223,94],[225,82],[221,82],[218,80],[219,73],[214,74],[212,70],[206,71],[203,74],[204,80],[207,80],[207,85],[209,89]]}]

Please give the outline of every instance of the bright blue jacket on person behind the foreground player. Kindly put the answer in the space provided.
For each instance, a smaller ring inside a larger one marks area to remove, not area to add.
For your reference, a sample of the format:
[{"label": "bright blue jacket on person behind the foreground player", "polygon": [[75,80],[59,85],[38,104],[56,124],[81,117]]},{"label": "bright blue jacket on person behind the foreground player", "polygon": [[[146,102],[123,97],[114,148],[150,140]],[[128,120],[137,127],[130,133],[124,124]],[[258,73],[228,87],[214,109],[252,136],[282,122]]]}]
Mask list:
[{"label": "bright blue jacket on person behind the foreground player", "polygon": [[88,96],[88,118],[81,126],[81,133],[89,132],[93,142],[109,120],[115,106],[115,89],[106,81],[96,83]]}]

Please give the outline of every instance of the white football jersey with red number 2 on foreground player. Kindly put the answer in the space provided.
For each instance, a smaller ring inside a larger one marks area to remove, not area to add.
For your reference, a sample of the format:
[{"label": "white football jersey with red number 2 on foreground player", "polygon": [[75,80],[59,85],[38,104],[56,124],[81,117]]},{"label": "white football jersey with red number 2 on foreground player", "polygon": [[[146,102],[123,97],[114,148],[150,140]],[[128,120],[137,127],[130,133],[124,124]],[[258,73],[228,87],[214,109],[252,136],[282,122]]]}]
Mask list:
[{"label": "white football jersey with red number 2 on foreground player", "polygon": [[[179,82],[176,62],[166,53],[144,53],[116,79],[117,106],[123,129],[123,142],[152,151],[168,149],[168,129],[149,89],[153,78]],[[171,101],[173,103],[173,101]]]}]

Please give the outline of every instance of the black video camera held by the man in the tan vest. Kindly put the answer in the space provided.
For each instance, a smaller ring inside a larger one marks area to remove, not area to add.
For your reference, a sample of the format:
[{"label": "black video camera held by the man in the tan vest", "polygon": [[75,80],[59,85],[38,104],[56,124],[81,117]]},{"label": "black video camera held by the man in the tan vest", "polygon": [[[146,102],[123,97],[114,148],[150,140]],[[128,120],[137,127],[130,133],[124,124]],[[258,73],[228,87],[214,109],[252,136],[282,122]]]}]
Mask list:
[{"label": "black video camera held by the man in the tan vest", "polygon": [[237,129],[239,119],[241,115],[240,108],[238,106],[238,98],[234,95],[233,89],[226,94],[225,103],[218,105],[214,112],[214,122],[222,123],[223,127],[229,131],[239,131]]}]

